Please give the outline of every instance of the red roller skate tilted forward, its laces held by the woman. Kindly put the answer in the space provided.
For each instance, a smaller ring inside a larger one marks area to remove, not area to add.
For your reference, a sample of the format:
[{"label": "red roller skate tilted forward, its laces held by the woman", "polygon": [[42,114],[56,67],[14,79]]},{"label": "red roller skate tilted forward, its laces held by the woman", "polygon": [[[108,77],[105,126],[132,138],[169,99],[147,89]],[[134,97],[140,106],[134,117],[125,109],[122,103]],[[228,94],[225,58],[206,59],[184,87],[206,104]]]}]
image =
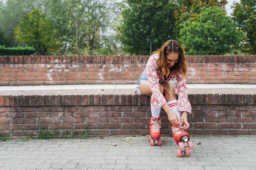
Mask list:
[{"label": "red roller skate tilted forward, its laces held by the woman", "polygon": [[171,131],[173,132],[173,138],[178,145],[178,149],[176,150],[177,157],[190,156],[189,149],[193,149],[193,143],[189,141],[190,136],[188,132],[182,130],[180,125],[173,125]]}]

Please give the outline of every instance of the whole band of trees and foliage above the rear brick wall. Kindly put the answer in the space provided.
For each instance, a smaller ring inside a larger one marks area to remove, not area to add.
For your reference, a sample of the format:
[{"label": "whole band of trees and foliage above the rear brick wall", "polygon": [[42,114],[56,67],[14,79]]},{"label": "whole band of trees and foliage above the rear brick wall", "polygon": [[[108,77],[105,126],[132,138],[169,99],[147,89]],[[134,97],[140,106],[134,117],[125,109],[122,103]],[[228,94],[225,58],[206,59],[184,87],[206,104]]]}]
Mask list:
[{"label": "whole band of trees and foliage above the rear brick wall", "polygon": [[234,4],[232,17],[220,12],[226,3],[0,0],[0,45],[33,46],[38,55],[149,55],[150,40],[154,51],[176,39],[186,54],[255,54],[255,0]]}]

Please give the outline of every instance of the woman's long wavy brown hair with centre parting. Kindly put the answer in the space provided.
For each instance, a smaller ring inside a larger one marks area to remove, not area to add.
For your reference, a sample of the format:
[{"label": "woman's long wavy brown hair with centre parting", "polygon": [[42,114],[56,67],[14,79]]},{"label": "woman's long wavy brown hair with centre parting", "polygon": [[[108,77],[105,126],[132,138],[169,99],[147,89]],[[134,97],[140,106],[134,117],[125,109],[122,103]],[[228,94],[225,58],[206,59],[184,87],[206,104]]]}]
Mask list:
[{"label": "woman's long wavy brown hair with centre parting", "polygon": [[[186,59],[184,54],[184,49],[180,42],[177,40],[167,40],[167,42],[164,42],[164,45],[162,45],[160,51],[154,51],[153,53],[158,53],[158,70],[160,71],[160,75],[164,75],[165,77],[168,77],[171,71],[177,70],[180,71],[183,77],[186,78]],[[167,66],[167,55],[169,53],[178,53],[179,59],[174,66],[169,69],[169,66]]]}]

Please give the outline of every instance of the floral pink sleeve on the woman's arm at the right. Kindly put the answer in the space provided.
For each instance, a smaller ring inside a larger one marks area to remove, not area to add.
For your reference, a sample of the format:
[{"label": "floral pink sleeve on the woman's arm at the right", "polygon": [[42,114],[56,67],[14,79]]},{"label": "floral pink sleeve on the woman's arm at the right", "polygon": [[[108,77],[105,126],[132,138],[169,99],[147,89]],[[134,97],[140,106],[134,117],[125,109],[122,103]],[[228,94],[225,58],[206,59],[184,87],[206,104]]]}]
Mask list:
[{"label": "floral pink sleeve on the woman's arm at the right", "polygon": [[186,88],[186,79],[180,72],[177,74],[178,90],[178,111],[191,113],[191,104],[188,100],[188,90]]}]

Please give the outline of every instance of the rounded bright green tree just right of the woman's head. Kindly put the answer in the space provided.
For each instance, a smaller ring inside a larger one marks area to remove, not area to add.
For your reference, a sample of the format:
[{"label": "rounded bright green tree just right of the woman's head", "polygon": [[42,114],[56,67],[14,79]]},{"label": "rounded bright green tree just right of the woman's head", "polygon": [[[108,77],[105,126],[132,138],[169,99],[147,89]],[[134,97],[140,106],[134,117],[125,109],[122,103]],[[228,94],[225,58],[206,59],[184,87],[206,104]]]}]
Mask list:
[{"label": "rounded bright green tree just right of the woman's head", "polygon": [[225,54],[242,40],[237,25],[217,6],[203,8],[195,22],[191,18],[181,27],[180,42],[189,55]]}]

